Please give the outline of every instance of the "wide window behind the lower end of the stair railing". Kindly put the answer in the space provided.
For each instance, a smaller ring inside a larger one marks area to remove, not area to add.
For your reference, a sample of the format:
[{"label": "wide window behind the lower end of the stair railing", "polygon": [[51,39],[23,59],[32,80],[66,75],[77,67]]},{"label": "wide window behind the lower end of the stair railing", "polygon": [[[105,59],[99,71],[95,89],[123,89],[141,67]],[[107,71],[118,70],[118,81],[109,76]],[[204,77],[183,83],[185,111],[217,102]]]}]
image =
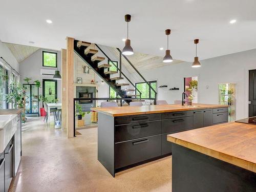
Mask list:
[{"label": "wide window behind the lower end of the stair railing", "polygon": [[[148,81],[148,83],[150,83],[151,87],[155,91],[157,90],[157,81]],[[155,92],[152,89],[150,90],[150,87],[148,86],[148,84],[146,82],[135,83],[135,87],[136,87],[136,95],[140,94],[138,92],[138,90],[139,90],[141,92],[141,98],[155,98],[156,97]]]}]

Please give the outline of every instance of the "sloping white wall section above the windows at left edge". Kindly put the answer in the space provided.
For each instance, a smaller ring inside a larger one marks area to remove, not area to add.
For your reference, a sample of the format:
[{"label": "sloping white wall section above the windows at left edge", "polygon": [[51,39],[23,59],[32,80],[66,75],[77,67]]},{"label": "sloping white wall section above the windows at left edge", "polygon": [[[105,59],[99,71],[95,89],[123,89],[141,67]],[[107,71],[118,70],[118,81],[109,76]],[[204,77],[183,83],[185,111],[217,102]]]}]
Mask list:
[{"label": "sloping white wall section above the windows at left edge", "polygon": [[3,44],[1,40],[0,40],[0,57],[3,57],[9,63],[10,66],[12,66],[17,72],[19,72],[18,61],[15,59],[15,57],[13,56],[9,48],[5,44]]}]

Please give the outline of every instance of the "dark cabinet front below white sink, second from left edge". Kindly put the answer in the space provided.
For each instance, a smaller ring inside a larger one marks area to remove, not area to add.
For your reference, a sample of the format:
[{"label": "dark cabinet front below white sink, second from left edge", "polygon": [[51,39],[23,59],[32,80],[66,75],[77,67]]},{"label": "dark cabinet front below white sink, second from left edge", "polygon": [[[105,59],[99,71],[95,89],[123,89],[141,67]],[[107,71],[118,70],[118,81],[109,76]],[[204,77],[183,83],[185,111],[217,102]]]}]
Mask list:
[{"label": "dark cabinet front below white sink, second from left edge", "polygon": [[5,149],[5,191],[8,191],[13,177],[13,141]]}]

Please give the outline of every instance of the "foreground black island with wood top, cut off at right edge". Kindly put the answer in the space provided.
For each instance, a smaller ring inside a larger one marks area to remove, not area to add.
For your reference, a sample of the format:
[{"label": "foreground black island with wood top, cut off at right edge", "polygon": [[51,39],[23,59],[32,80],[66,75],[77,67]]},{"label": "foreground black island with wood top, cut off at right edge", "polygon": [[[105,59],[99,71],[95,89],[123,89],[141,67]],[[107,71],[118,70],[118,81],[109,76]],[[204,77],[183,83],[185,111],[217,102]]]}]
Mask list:
[{"label": "foreground black island with wood top, cut off at right edge", "polygon": [[218,124],[167,140],[173,191],[256,191],[255,124]]}]

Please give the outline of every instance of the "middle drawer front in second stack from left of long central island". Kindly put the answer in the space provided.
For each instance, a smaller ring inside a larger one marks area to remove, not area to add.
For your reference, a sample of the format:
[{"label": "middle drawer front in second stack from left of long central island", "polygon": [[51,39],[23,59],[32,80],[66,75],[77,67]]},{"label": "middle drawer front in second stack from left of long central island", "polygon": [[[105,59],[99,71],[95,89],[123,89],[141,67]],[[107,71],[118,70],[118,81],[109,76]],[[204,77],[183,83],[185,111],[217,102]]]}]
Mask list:
[{"label": "middle drawer front in second stack from left of long central island", "polygon": [[191,129],[193,122],[193,116],[162,120],[162,133]]}]

